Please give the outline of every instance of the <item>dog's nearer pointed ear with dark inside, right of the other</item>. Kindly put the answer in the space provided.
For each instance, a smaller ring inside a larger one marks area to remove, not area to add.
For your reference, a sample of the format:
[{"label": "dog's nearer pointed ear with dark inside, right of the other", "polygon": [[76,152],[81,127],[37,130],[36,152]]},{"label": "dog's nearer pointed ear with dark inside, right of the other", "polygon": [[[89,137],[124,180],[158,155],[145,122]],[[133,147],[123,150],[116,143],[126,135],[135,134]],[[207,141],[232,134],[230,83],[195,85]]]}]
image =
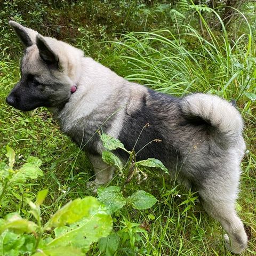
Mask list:
[{"label": "dog's nearer pointed ear with dark inside, right of the other", "polygon": [[59,58],[58,55],[54,53],[54,50],[46,42],[45,38],[41,35],[36,36],[36,45],[39,50],[39,55],[41,59],[49,66],[54,66],[59,68]]}]

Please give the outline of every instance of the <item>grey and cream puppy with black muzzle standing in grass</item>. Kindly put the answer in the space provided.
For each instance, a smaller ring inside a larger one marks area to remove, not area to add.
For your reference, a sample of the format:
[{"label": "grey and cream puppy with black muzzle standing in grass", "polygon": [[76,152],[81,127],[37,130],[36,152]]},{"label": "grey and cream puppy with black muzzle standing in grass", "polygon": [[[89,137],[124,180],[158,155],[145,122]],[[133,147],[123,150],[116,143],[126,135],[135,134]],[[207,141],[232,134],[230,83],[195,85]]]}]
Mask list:
[{"label": "grey and cream puppy with black muzzle standing in grass", "polygon": [[[99,129],[128,150],[135,145],[137,160],[159,159],[179,182],[198,191],[205,211],[227,231],[229,250],[245,249],[247,236],[235,211],[245,151],[243,119],[231,103],[215,95],[174,98],[147,89],[65,42],[9,23],[26,47],[21,79],[6,98],[9,105],[23,111],[47,107],[61,130],[88,151],[97,184],[113,175],[101,158]],[[116,154],[127,158],[122,151]]]}]

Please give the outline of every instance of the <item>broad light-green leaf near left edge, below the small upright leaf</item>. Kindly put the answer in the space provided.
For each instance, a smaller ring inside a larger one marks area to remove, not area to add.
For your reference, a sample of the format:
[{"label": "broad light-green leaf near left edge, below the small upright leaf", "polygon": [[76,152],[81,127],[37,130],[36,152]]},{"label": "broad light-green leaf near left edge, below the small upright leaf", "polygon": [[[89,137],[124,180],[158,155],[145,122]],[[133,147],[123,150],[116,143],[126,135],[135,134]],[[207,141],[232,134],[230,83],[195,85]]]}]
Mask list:
[{"label": "broad light-green leaf near left edge, below the small upright leaf", "polygon": [[38,176],[43,176],[42,170],[31,163],[25,163],[23,166],[15,172],[11,182],[26,182],[27,179],[37,179]]}]

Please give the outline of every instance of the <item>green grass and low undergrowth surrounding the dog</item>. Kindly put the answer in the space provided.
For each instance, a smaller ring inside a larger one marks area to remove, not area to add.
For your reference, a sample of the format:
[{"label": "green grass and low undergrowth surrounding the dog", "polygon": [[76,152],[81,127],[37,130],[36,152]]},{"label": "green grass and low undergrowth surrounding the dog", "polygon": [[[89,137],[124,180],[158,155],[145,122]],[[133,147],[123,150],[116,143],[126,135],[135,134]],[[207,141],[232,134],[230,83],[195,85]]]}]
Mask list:
[{"label": "green grass and low undergrowth surrounding the dog", "polygon": [[[251,26],[245,26],[238,36],[224,28],[221,33],[212,33],[207,26],[204,36],[190,25],[153,32],[142,27],[143,32],[114,35],[111,30],[108,31],[111,36],[100,38],[79,29],[73,45],[118,75],[152,89],[177,96],[198,91],[237,100],[245,122],[247,145],[237,211],[250,241],[243,255],[255,255],[256,63]],[[21,56],[18,42],[13,44],[11,39],[15,38],[12,31],[8,33],[0,43],[0,159],[6,161],[5,145],[9,145],[17,153],[18,165],[29,155],[42,159],[45,175],[25,187],[17,186],[17,196],[10,195],[6,205],[2,205],[1,216],[18,211],[28,217],[24,198],[33,199],[38,190],[49,188],[42,210],[43,218],[47,219],[70,199],[92,195],[86,188],[86,181],[93,175],[92,167],[86,155],[60,133],[46,109],[22,113],[6,105],[5,97],[19,79],[18,56]],[[67,41],[72,39],[69,37]],[[121,183],[119,177],[111,181],[111,185],[121,186]],[[127,206],[114,214],[114,230],[126,227],[135,237],[134,243],[130,238],[123,241],[116,255],[231,255],[222,241],[225,231],[203,211],[195,195],[168,177],[154,173],[149,173],[148,180],[141,185],[130,182],[123,194],[129,196],[137,189],[153,194],[158,203],[149,210],[135,211]],[[131,222],[139,223],[147,232],[138,232]],[[97,244],[93,244],[87,255],[102,254]]]}]

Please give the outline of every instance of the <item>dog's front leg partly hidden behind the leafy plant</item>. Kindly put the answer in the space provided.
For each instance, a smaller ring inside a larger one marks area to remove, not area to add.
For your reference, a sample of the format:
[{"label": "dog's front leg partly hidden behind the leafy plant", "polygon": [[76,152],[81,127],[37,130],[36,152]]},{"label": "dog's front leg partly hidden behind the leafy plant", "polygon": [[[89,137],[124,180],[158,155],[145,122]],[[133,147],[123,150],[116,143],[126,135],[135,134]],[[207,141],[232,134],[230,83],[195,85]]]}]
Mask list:
[{"label": "dog's front leg partly hidden behind the leafy plant", "polygon": [[89,155],[89,159],[95,173],[95,180],[91,182],[91,185],[99,186],[109,182],[113,177],[113,167],[103,162],[100,155]]}]

